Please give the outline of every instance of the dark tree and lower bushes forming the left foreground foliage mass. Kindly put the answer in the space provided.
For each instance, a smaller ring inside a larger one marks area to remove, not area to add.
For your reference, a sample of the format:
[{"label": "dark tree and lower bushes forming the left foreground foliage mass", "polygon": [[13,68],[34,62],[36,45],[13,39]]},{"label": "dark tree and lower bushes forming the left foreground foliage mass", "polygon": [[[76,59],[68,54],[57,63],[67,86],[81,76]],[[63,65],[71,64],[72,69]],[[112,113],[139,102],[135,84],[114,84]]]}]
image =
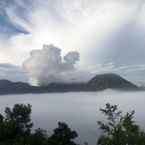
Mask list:
[{"label": "dark tree and lower bushes forming the left foreground foliage mass", "polygon": [[40,128],[32,131],[31,105],[16,104],[0,114],[0,145],[76,145],[77,133],[59,122],[51,136]]}]

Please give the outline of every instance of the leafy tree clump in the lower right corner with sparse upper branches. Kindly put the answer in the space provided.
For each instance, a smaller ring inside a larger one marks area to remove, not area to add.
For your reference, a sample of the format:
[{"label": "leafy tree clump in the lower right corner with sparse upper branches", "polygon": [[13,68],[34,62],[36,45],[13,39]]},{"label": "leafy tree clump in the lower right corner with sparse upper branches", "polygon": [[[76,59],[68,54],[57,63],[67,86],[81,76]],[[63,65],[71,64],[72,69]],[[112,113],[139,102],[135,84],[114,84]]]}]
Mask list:
[{"label": "leafy tree clump in the lower right corner with sparse upper branches", "polygon": [[110,104],[100,111],[107,117],[107,123],[98,122],[103,131],[98,145],[145,145],[145,133],[133,120],[134,111],[123,116],[116,105]]}]

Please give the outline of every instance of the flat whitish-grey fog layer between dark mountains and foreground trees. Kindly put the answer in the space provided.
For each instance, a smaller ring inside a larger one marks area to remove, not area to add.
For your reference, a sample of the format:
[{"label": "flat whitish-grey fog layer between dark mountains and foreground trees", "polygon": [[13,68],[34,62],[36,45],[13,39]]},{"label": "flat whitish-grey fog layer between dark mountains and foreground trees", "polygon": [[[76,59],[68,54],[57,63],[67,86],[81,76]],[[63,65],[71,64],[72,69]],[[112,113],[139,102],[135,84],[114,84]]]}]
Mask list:
[{"label": "flat whitish-grey fog layer between dark mountains and foreground trees", "polygon": [[34,128],[47,129],[51,134],[58,121],[63,121],[79,133],[77,142],[95,145],[99,136],[98,120],[104,120],[99,109],[106,103],[119,105],[125,112],[135,110],[135,120],[145,129],[145,92],[50,93],[1,95],[0,112],[16,103],[32,105]]}]

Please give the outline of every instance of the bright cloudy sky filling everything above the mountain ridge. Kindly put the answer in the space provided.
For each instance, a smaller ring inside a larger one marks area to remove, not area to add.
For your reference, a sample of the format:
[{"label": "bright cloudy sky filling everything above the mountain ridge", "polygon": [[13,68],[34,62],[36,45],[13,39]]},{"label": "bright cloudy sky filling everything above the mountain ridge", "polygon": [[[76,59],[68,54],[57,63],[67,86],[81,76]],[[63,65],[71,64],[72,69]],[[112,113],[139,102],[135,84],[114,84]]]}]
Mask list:
[{"label": "bright cloudy sky filling everything above the mountain ridge", "polygon": [[144,0],[1,0],[0,79],[112,72],[145,83],[144,12]]}]

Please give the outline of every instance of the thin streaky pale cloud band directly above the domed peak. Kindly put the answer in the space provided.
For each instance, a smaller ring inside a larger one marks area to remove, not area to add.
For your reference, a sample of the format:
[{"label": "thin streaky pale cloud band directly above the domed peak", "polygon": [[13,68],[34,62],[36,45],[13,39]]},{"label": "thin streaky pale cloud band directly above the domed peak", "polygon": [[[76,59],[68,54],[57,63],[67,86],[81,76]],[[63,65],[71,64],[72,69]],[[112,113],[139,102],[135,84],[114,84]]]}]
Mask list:
[{"label": "thin streaky pale cloud band directly above the domed peak", "polygon": [[129,64],[129,65],[117,65],[113,62],[96,64],[93,67],[88,67],[86,72],[91,72],[90,78],[96,74],[102,73],[116,73],[126,78],[129,81],[134,82],[137,85],[144,84],[145,80],[145,65],[144,64]]}]

